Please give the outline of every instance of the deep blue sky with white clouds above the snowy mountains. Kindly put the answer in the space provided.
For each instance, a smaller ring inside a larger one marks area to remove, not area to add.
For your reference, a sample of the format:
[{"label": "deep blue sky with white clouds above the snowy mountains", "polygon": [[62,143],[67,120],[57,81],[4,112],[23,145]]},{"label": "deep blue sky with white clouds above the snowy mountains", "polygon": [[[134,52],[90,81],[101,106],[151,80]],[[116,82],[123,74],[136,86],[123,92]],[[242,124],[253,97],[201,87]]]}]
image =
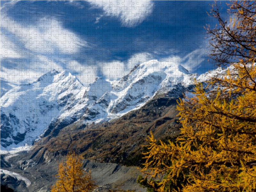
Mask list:
[{"label": "deep blue sky with white clouds above the snowy mountains", "polygon": [[[226,1],[222,1],[226,14]],[[56,69],[86,86],[118,80],[148,60],[202,74],[212,1],[1,1],[1,81],[27,83]]]}]

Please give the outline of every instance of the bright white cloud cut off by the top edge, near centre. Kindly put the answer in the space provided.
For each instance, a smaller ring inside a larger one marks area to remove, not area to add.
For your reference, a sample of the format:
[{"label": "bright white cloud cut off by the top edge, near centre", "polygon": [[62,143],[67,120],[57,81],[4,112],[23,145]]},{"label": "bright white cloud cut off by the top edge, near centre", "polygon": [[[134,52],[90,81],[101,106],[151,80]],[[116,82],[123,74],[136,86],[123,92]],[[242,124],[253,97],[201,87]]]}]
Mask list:
[{"label": "bright white cloud cut off by the top edge, near centre", "polygon": [[[89,1],[92,7],[100,7],[104,16],[116,17],[126,27],[134,27],[153,11],[153,1]],[[99,22],[99,17],[96,23]]]}]

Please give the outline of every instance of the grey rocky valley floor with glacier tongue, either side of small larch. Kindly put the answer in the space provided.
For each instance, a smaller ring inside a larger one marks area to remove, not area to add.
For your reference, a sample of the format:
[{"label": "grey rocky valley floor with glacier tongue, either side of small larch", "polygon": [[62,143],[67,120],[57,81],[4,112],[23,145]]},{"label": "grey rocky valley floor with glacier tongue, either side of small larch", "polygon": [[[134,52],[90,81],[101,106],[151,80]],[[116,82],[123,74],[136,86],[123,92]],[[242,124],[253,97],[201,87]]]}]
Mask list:
[{"label": "grey rocky valley floor with glacier tongue, either side of small larch", "polygon": [[[7,184],[17,192],[49,192],[51,185],[55,184],[58,162],[64,156],[52,156],[49,162],[41,161],[42,154],[34,151],[23,151],[13,154],[1,154],[1,184]],[[45,154],[44,154],[45,155]],[[38,159],[35,163],[34,159]],[[141,174],[137,167],[126,167],[113,163],[95,163],[84,160],[85,171],[91,170],[93,178],[97,181],[99,191],[136,190],[145,192],[146,189],[136,183]],[[10,173],[10,174],[9,174]]]}]

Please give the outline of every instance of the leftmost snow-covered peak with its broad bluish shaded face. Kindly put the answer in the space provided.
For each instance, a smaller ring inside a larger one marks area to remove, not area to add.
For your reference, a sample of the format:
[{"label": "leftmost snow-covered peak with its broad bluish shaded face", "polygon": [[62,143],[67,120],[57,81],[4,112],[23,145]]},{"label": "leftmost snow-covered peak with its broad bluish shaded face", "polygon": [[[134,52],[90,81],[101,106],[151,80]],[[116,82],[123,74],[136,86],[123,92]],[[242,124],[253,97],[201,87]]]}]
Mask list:
[{"label": "leftmost snow-covered peak with its broad bluish shaded face", "polygon": [[1,145],[31,144],[55,117],[75,104],[83,88],[75,76],[53,70],[8,91],[1,97]]}]

